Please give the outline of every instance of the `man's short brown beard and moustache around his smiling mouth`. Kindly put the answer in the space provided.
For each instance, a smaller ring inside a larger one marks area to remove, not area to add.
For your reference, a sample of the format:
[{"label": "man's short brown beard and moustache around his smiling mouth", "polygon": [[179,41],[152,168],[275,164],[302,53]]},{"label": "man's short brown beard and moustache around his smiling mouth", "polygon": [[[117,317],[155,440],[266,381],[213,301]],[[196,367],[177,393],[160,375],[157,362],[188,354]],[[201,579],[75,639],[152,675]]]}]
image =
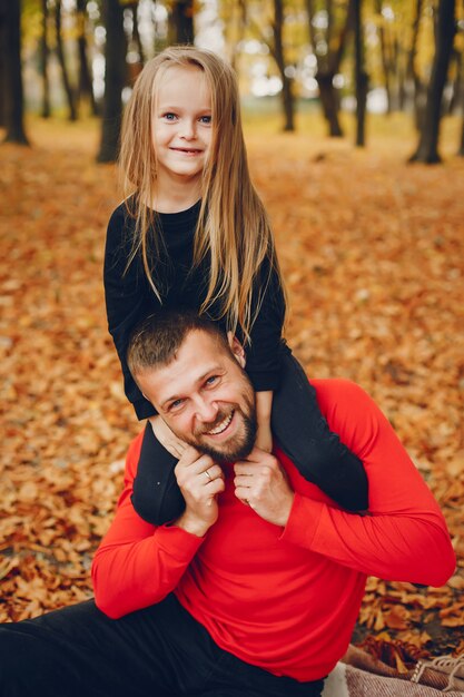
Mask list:
[{"label": "man's short brown beard and moustache around his smiling mouth", "polygon": [[[214,423],[208,424],[207,430],[213,431],[216,425],[221,423],[224,419],[234,413],[234,419],[240,418],[241,425],[238,432],[229,442],[218,444],[217,448],[210,445],[206,439],[205,426],[203,432],[194,434],[189,439],[189,444],[194,445],[205,455],[213,458],[218,464],[226,464],[227,462],[236,462],[237,460],[244,460],[251,452],[257,432],[256,408],[255,403],[247,397],[244,397],[246,409],[241,409],[238,404],[228,404],[228,409],[220,409]],[[205,440],[203,440],[203,436]]]}]

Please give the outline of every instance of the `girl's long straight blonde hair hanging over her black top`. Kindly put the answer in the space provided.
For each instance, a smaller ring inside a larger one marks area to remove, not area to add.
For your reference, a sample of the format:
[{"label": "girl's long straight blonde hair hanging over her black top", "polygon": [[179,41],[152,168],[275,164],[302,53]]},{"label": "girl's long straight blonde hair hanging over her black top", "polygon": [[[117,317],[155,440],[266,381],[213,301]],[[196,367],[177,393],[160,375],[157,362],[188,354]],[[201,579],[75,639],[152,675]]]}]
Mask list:
[{"label": "girl's long straight blonde hair hanging over her black top", "polygon": [[[161,77],[172,66],[199,68],[211,95],[213,137],[201,177],[201,207],[195,232],[194,268],[209,255],[209,283],[200,313],[215,306],[227,327],[249,333],[259,312],[273,269],[282,281],[270,224],[249,176],[238,85],[234,70],[213,51],[171,47],[146,63],[125,110],[119,164],[125,198],[136,234],[128,265],[140,252],[144,268],[158,300],[161,288],[152,273],[162,239],[156,232],[152,200],[157,158],[151,119]],[[130,195],[135,194],[134,197]],[[150,234],[155,229],[155,235]],[[269,274],[257,283],[261,264]]]}]

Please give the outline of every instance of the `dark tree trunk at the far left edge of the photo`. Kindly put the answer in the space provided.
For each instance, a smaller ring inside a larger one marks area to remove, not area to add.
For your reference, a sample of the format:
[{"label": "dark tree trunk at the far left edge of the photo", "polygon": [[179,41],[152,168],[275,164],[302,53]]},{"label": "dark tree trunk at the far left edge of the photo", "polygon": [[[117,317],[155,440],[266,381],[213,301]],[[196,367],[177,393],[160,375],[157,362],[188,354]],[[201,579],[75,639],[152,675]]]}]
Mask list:
[{"label": "dark tree trunk at the far left edge of the photo", "polygon": [[24,105],[21,75],[21,2],[1,0],[0,46],[3,47],[6,143],[29,145],[23,126]]}]

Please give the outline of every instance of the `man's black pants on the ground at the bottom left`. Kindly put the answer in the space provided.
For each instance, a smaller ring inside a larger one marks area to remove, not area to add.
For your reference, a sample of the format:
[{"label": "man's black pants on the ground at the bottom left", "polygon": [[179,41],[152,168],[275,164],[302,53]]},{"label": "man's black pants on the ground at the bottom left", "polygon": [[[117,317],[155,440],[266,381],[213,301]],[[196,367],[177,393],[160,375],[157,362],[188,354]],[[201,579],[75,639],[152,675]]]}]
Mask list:
[{"label": "man's black pants on the ground at the bottom left", "polygon": [[223,651],[171,595],[111,620],[93,601],[0,625],[1,697],[319,697]]}]

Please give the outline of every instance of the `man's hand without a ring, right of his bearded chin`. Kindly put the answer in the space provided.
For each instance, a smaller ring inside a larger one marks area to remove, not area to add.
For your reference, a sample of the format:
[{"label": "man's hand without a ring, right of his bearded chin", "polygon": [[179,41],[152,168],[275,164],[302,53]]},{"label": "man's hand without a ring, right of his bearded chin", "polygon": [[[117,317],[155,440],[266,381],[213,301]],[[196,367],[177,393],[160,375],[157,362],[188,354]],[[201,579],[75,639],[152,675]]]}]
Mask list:
[{"label": "man's hand without a ring, right of his bearded chin", "polygon": [[234,470],[235,495],[264,520],[285,527],[295,493],[277,458],[254,448]]}]

